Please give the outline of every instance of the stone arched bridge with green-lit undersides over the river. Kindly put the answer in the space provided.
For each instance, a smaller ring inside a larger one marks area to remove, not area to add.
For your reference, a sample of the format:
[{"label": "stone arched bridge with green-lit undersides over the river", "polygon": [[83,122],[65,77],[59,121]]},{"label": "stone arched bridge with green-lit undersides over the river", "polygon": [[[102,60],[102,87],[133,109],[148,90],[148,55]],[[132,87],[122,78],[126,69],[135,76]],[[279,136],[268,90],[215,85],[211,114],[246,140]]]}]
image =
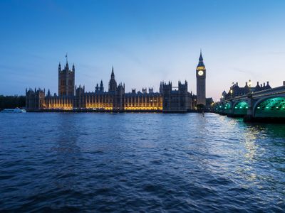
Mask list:
[{"label": "stone arched bridge with green-lit undersides over the river", "polygon": [[218,114],[244,117],[244,121],[274,120],[285,122],[285,83],[281,87],[250,92],[221,100],[214,105]]}]

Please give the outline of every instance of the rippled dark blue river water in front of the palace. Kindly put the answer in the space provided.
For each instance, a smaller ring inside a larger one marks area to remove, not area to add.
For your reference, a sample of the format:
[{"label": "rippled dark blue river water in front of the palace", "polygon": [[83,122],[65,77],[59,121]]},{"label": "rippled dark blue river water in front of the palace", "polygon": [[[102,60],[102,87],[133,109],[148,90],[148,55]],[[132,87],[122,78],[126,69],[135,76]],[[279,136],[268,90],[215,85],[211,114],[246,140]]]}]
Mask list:
[{"label": "rippled dark blue river water in front of the palace", "polygon": [[0,211],[281,212],[285,126],[217,114],[0,114]]}]

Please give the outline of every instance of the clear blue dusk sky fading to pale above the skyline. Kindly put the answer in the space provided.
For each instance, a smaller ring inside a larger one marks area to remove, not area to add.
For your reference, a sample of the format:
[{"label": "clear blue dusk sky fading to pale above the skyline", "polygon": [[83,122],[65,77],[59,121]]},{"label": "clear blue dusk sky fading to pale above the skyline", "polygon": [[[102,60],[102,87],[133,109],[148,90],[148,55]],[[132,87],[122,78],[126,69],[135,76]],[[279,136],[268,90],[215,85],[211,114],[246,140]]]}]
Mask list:
[{"label": "clear blue dusk sky fading to pale above the skyline", "polygon": [[232,82],[285,80],[285,1],[0,1],[0,94],[58,90],[58,62],[76,67],[93,91],[112,66],[125,92],[160,81],[188,82],[196,94],[199,51],[207,97]]}]

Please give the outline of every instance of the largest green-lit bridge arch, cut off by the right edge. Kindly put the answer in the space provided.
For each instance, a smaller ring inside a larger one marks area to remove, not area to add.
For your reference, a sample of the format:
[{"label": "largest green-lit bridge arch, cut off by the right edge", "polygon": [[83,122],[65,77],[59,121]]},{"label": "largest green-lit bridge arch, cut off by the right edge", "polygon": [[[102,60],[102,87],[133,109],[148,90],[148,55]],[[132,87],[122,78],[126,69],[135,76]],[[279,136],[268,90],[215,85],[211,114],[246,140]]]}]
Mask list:
[{"label": "largest green-lit bridge arch, cut off by the right edge", "polygon": [[255,117],[282,117],[285,118],[285,94],[276,97],[259,99],[254,104]]}]

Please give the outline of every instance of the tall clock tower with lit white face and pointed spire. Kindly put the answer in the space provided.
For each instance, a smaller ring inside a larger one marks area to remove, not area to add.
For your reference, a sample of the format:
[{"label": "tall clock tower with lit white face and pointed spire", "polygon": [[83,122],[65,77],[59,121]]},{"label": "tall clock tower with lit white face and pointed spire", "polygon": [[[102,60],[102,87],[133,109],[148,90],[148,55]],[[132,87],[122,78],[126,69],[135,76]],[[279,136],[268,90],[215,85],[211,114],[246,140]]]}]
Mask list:
[{"label": "tall clock tower with lit white face and pointed spire", "polygon": [[197,80],[197,105],[206,106],[206,67],[204,66],[202,51],[200,52],[199,64],[196,68]]}]

